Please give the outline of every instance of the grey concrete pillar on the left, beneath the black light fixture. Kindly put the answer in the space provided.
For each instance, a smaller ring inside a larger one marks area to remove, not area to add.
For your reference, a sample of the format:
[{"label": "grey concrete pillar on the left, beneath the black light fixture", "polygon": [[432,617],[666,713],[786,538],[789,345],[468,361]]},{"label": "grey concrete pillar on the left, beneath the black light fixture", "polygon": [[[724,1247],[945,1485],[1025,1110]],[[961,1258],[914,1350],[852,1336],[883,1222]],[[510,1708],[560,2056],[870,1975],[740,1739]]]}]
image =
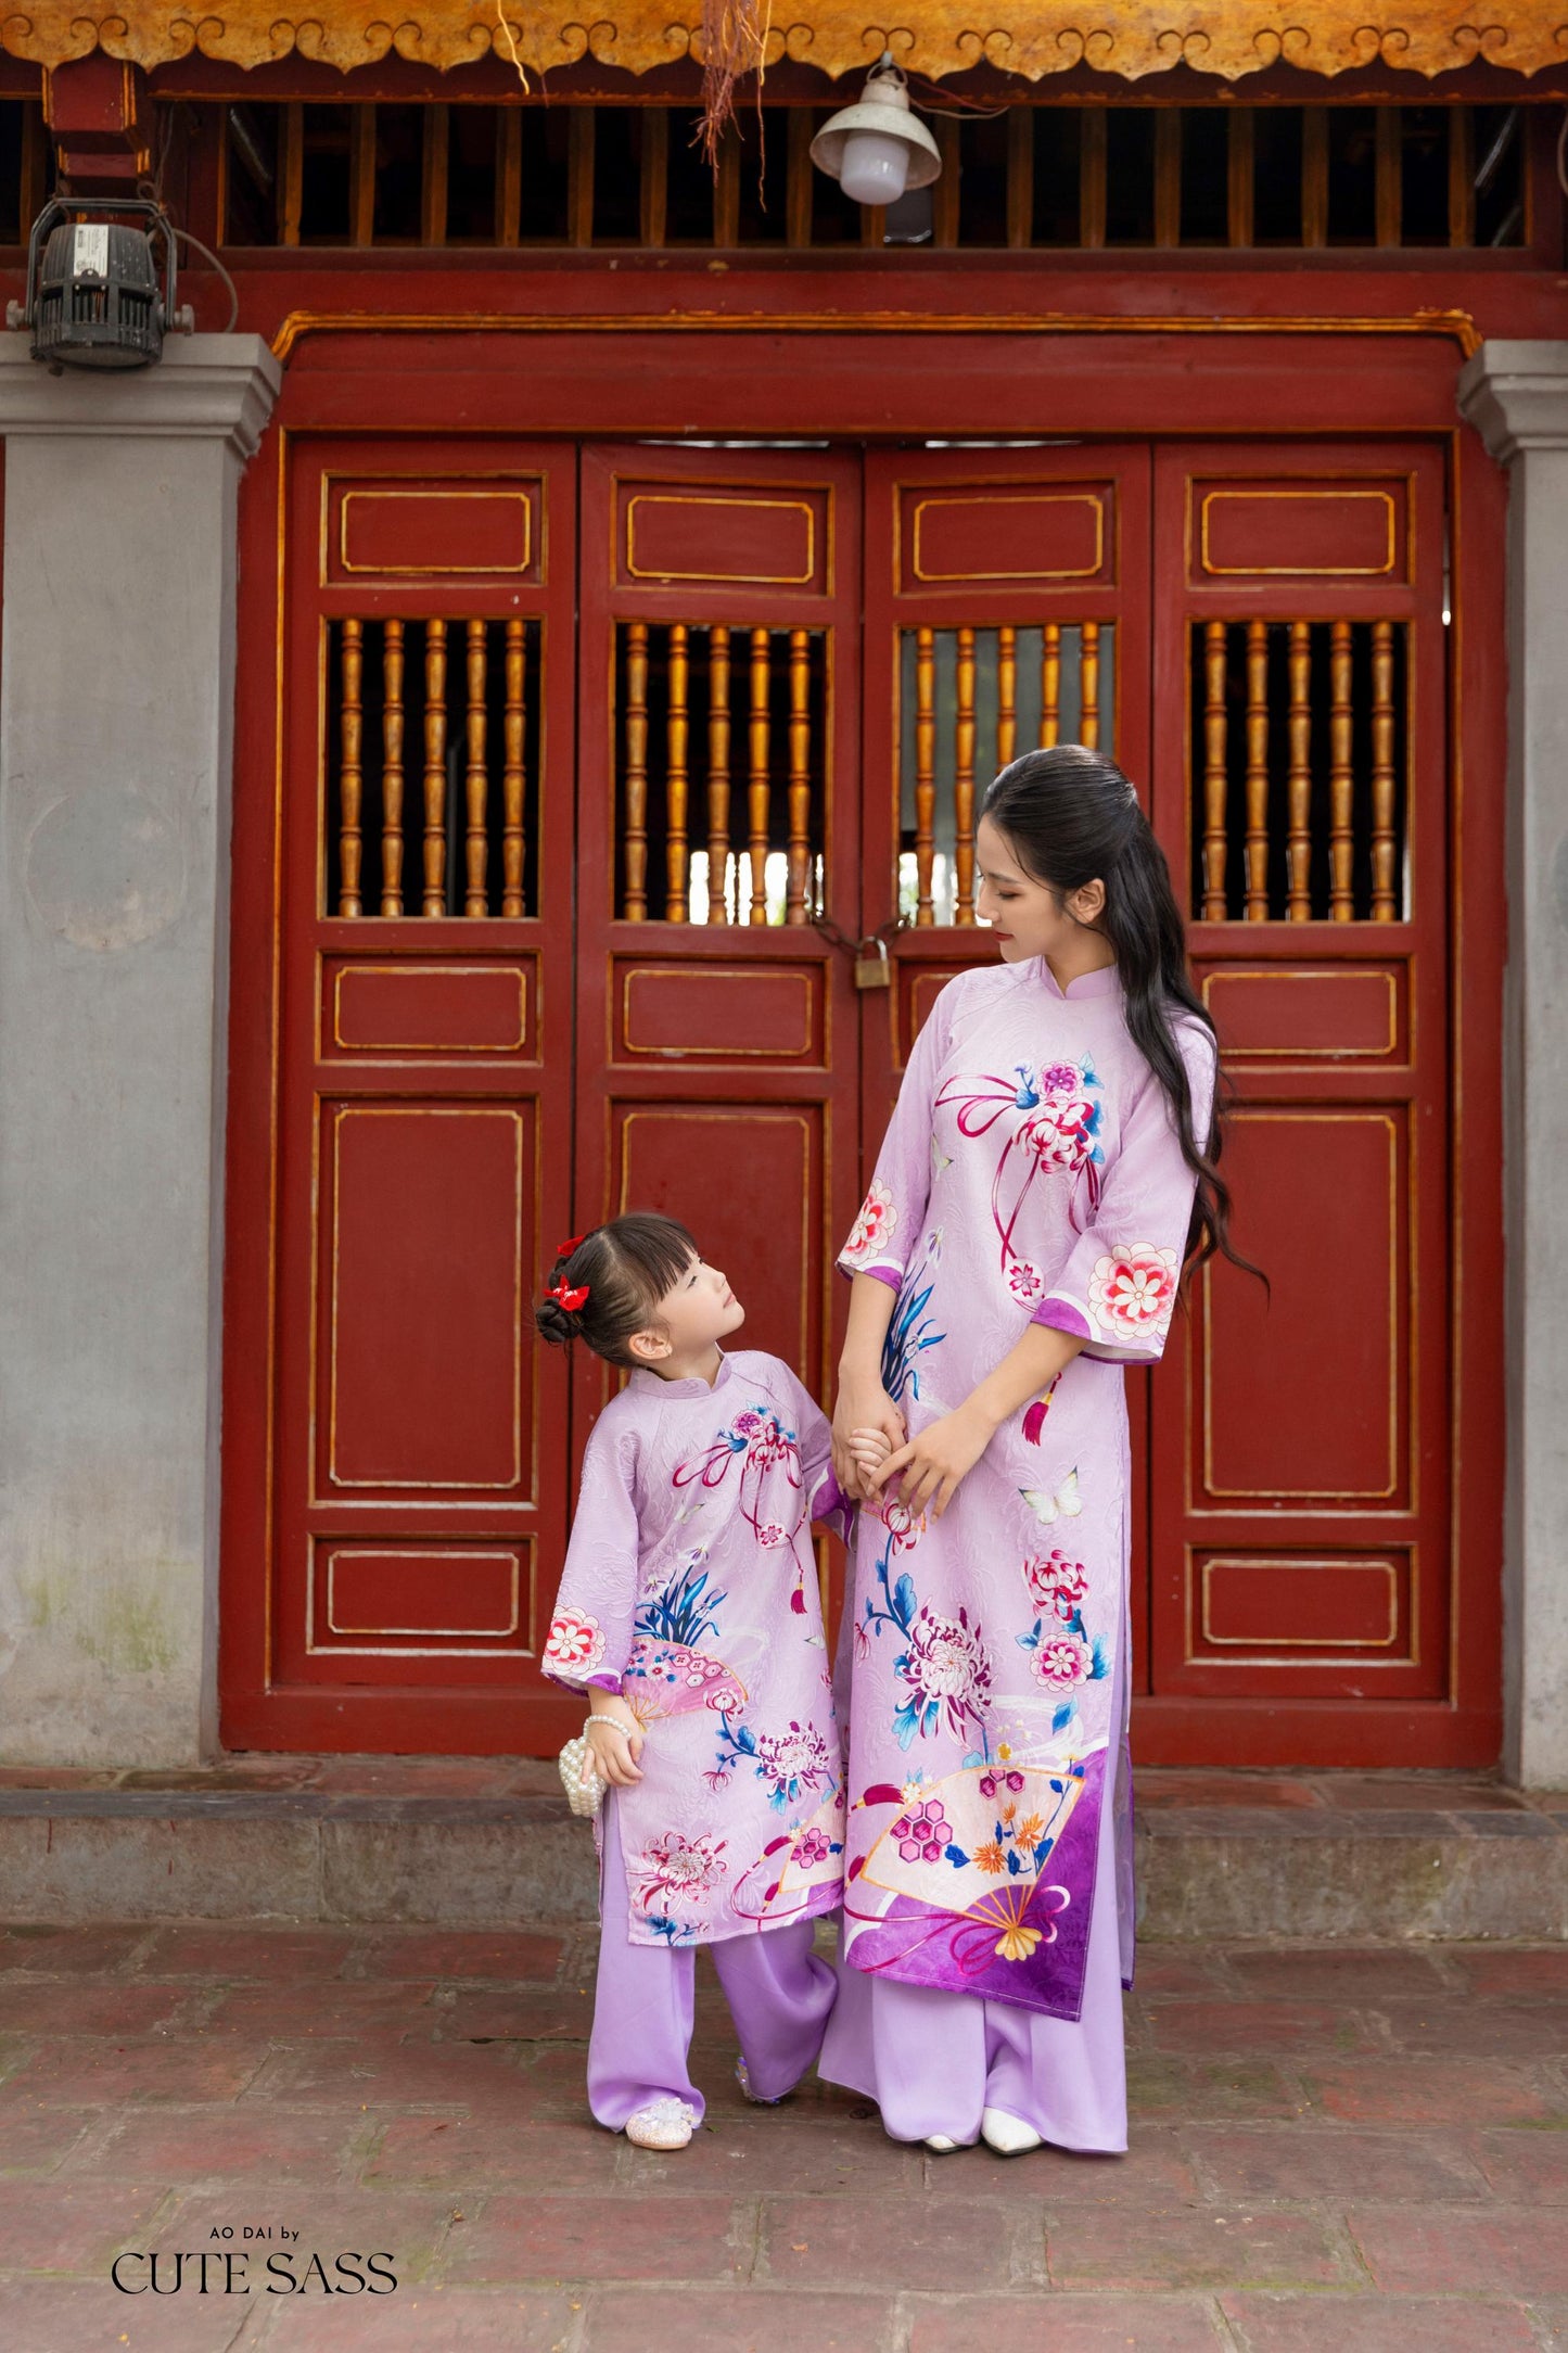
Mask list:
[{"label": "grey concrete pillar on the left, beneath the black light fixture", "polygon": [[235,494],[280,369],[0,334],[0,1758],[216,1746]]}]

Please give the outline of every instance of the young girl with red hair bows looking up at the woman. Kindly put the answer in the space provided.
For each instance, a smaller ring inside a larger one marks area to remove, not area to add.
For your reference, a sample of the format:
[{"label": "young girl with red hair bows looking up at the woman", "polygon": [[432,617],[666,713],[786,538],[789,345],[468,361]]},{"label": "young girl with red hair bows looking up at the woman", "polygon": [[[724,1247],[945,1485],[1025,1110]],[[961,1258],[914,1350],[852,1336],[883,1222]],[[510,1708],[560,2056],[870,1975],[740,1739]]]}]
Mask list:
[{"label": "young girl with red hair bows looking up at the woman", "polygon": [[[750,2099],[799,2082],[832,2009],[811,1937],[842,1894],[844,1765],[811,1520],[849,1504],[788,1365],[719,1346],[745,1308],[672,1219],[562,1245],[536,1320],[630,1369],[583,1454],[543,1657],[588,1689],[609,1784],[588,2104],[642,2148],[684,2148],[703,2118],[693,1946],[712,1946]],[[884,1454],[851,1442],[867,1468]]]}]

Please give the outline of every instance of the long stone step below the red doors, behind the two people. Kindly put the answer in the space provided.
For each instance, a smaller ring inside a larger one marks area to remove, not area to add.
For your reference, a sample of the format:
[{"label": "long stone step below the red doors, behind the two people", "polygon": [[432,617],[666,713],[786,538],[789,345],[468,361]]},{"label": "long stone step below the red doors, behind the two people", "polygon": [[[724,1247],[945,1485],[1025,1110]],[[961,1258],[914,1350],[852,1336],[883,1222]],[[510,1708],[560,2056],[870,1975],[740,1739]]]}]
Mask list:
[{"label": "long stone step below the red doors, behind the two people", "polygon": [[[588,1920],[592,1838],[550,1762],[226,1758],[0,1767],[0,1918]],[[1455,1774],[1138,1777],[1150,1939],[1563,1939],[1568,1795]]]}]

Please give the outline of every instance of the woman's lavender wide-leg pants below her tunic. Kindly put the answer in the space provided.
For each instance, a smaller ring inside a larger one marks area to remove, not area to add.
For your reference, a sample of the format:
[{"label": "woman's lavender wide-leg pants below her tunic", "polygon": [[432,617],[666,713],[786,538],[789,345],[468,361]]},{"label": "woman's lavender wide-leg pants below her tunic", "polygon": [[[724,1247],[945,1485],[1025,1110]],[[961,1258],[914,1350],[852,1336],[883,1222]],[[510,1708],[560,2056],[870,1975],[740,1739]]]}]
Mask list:
[{"label": "woman's lavender wide-leg pants below her tunic", "polygon": [[1004,2108],[1058,2148],[1103,2155],[1126,2148],[1112,1784],[1107,1774],[1077,2024],[839,1965],[839,2000],[818,2073],[875,2099],[896,2141],[924,2141],[933,2132],[976,2141],[980,2111]]}]

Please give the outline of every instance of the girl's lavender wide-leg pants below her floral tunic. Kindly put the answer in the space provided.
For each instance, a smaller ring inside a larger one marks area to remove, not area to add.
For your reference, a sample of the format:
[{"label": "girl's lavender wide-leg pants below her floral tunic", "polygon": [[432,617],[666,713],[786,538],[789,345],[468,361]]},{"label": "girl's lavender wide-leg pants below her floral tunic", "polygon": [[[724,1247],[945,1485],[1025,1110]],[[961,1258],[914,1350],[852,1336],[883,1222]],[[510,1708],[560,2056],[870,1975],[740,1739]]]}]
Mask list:
[{"label": "girl's lavender wide-leg pants below her floral tunic", "polygon": [[[599,1974],[588,2040],[588,2106],[618,2132],[632,2108],[672,2094],[703,2115],[691,2082],[696,1948],[630,1944],[628,1889],[614,1798],[604,1800],[599,1861]],[[816,2059],[835,2000],[835,1974],[811,1951],[816,1922],[792,1920],[710,1946],[757,2099],[783,2099]]]}]

